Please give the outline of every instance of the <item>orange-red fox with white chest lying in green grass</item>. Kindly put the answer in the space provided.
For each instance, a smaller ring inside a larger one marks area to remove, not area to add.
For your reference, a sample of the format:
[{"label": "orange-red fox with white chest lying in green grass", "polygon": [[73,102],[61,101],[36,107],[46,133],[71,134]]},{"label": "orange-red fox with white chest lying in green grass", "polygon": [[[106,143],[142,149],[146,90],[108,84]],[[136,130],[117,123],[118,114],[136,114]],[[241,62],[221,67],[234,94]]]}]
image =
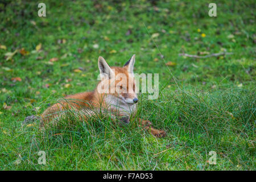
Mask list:
[{"label": "orange-red fox with white chest lying in green grass", "polygon": [[[100,81],[92,92],[82,92],[66,96],[60,101],[48,107],[41,115],[41,126],[56,126],[65,110],[73,109],[79,113],[82,121],[88,119],[95,112],[93,110],[105,110],[111,118],[118,119],[120,123],[128,125],[135,118],[138,109],[137,84],[134,77],[135,55],[133,55],[123,67],[110,67],[106,60],[98,57],[98,69]],[[117,79],[117,77],[120,77]],[[166,131],[152,127],[152,123],[142,118],[136,118],[138,127],[148,131],[155,137],[166,137]]]}]

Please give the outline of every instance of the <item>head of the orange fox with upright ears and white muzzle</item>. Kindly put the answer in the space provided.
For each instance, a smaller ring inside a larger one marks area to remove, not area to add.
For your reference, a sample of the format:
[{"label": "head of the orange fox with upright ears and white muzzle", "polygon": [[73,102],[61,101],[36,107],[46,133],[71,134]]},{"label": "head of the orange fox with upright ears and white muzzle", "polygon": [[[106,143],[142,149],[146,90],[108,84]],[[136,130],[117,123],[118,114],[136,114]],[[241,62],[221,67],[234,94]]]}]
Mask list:
[{"label": "head of the orange fox with upright ears and white muzzle", "polygon": [[98,57],[101,81],[97,86],[100,93],[117,97],[128,105],[138,102],[137,88],[133,73],[135,55],[123,67],[109,67],[103,57]]}]

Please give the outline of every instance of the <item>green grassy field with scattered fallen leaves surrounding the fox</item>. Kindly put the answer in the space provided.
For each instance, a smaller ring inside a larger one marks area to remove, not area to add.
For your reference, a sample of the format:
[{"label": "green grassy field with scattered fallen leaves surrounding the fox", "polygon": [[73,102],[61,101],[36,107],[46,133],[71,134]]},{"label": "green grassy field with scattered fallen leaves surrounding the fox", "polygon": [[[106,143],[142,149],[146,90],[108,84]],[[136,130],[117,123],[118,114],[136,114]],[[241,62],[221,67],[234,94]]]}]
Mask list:
[{"label": "green grassy field with scattered fallen leaves surrounding the fox", "polygon": [[[1,170],[255,170],[255,1],[216,1],[217,17],[212,1],[43,2],[46,17],[36,1],[0,3]],[[108,118],[47,135],[22,124],[93,90],[98,56],[122,66],[133,54],[135,72],[159,73],[139,117],[167,137]]]}]

